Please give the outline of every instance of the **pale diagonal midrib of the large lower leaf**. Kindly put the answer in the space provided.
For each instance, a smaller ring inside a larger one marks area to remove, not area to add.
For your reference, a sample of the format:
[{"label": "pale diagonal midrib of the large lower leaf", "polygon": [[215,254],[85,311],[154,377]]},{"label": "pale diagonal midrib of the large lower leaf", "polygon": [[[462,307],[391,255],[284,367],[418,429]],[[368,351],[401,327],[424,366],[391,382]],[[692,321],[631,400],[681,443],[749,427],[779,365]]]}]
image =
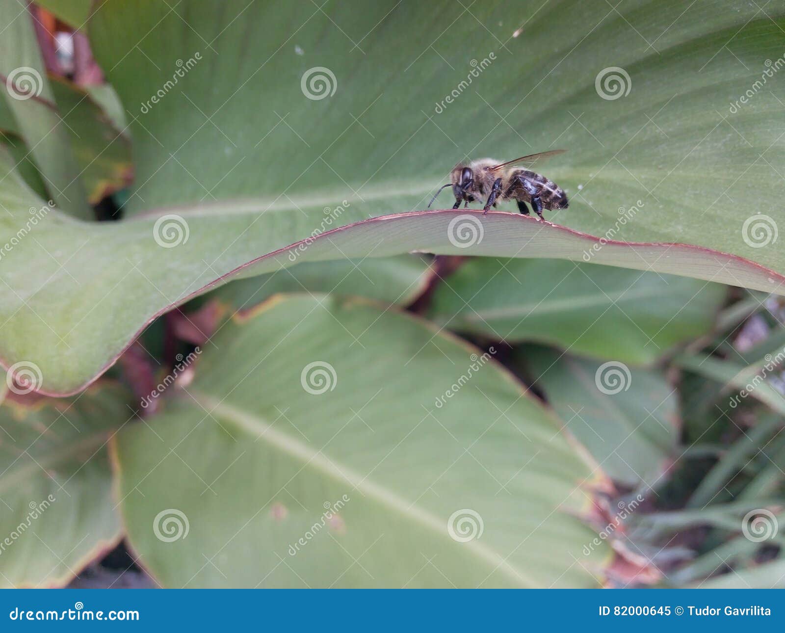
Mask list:
[{"label": "pale diagonal midrib of the large lower leaf", "polygon": [[[408,503],[406,499],[398,496],[396,492],[368,481],[367,477],[363,477],[345,464],[342,464],[340,468],[334,466],[333,461],[302,444],[296,438],[276,430],[265,419],[253,413],[245,412],[206,393],[196,390],[189,390],[189,393],[207,411],[210,411],[210,415],[217,415],[217,417],[224,419],[227,423],[232,423],[240,429],[253,434],[257,439],[267,442],[272,448],[282,450],[288,456],[298,459],[302,462],[303,468],[311,467],[314,470],[318,470],[319,473],[327,475],[327,477],[340,481],[342,484],[349,484],[352,488],[359,490],[363,496],[369,496],[378,501],[378,503],[389,507],[395,514],[410,518],[411,521],[435,532],[441,538],[447,536],[446,524],[433,514],[414,507],[413,503]],[[476,558],[490,565],[491,573],[498,569],[516,584],[523,584],[525,587],[540,586],[534,579],[527,576],[520,569],[510,565],[506,558],[503,558],[490,547],[485,546],[484,543],[473,540],[468,543],[462,543],[462,545]]]}]

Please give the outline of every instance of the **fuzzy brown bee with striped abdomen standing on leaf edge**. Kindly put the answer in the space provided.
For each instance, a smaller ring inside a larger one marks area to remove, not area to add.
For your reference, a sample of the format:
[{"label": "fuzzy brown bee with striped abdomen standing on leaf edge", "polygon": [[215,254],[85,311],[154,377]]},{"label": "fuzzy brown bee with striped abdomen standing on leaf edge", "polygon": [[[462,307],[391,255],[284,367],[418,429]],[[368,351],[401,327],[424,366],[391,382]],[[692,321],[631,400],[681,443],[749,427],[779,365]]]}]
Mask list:
[{"label": "fuzzy brown bee with striped abdomen standing on leaf edge", "polygon": [[515,200],[520,213],[529,214],[529,208],[526,206],[526,203],[529,203],[535,214],[544,220],[542,210],[566,209],[567,196],[555,182],[526,167],[534,166],[535,163],[562,152],[563,149],[554,149],[550,152],[521,156],[507,163],[499,163],[494,159],[473,160],[468,164],[459,163],[450,173],[450,182],[439,188],[428,206],[433,204],[442,189],[452,187],[455,194],[453,209],[460,207],[462,202],[465,203],[465,207],[469,207],[470,202],[487,196],[483,215],[487,214],[491,207],[495,208],[496,203],[502,200]]}]

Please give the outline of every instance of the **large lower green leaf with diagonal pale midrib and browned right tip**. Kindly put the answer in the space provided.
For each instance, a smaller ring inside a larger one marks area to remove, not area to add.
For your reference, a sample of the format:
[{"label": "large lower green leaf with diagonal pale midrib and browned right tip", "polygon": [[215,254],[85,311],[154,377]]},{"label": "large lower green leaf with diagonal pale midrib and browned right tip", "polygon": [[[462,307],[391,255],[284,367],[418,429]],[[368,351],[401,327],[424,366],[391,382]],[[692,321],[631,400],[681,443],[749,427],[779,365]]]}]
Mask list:
[{"label": "large lower green leaf with diagonal pale midrib and browned right tip", "polygon": [[608,547],[586,554],[574,514],[604,475],[492,354],[324,296],[272,300],[214,342],[116,441],[130,543],[162,584],[600,580]]}]

